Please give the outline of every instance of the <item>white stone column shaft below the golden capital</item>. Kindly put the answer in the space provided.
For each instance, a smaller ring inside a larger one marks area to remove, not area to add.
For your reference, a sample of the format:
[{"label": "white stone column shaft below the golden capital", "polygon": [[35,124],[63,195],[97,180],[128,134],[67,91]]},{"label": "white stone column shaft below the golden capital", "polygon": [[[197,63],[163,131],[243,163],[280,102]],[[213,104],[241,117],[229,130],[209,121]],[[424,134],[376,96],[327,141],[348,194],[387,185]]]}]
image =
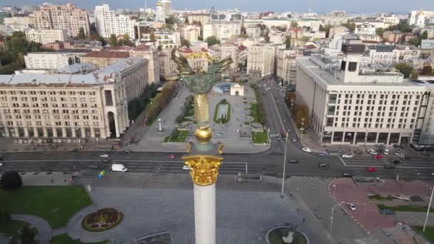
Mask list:
[{"label": "white stone column shaft below the golden capital", "polygon": [[193,185],[196,244],[216,244],[216,183]]}]

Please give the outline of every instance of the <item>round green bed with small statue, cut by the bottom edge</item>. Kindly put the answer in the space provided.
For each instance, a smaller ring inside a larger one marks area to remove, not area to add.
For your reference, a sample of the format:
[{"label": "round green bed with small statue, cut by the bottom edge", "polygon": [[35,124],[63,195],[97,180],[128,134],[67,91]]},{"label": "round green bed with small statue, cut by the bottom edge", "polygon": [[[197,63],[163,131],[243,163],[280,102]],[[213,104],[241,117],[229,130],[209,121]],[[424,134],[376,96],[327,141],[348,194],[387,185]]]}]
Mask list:
[{"label": "round green bed with small statue, cut by the bottom edge", "polygon": [[266,240],[268,244],[309,244],[306,234],[293,226],[277,226],[268,230]]}]

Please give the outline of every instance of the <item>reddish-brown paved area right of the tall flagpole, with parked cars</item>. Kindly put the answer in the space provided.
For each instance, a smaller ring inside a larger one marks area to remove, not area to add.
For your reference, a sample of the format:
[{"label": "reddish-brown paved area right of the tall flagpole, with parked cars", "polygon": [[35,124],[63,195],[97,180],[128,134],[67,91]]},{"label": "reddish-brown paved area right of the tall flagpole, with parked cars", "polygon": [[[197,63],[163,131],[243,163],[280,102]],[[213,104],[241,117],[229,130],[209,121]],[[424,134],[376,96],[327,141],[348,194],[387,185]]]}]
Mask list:
[{"label": "reddish-brown paved area right of the tall flagpole, with parked cars", "polygon": [[[395,215],[383,215],[378,204],[397,205],[426,205],[430,196],[430,185],[422,181],[395,182],[374,181],[356,184],[351,178],[338,178],[330,182],[328,191],[336,202],[344,202],[343,209],[362,228],[391,228],[395,225]],[[418,196],[422,201],[413,202],[399,199],[378,200],[368,198],[368,195],[400,195],[403,197]],[[355,210],[351,210],[346,203],[353,203]]]}]

